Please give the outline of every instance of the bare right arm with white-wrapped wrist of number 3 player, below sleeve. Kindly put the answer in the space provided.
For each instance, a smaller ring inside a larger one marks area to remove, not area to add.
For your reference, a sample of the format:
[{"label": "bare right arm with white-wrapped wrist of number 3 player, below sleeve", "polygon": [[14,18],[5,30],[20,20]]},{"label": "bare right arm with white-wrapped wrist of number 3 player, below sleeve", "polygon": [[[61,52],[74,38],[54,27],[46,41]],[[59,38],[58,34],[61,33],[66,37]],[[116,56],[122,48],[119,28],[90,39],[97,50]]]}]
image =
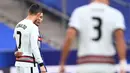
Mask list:
[{"label": "bare right arm with white-wrapped wrist of number 3 player, below sleeve", "polygon": [[115,31],[116,49],[119,57],[120,73],[126,73],[126,44],[124,40],[124,31],[117,29]]}]

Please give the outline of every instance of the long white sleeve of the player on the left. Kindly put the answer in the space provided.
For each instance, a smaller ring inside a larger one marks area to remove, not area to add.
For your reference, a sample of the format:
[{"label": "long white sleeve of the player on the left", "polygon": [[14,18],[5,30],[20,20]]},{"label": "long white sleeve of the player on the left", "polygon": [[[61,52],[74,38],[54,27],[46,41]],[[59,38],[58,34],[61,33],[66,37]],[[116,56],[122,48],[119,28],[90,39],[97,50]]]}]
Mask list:
[{"label": "long white sleeve of the player on the left", "polygon": [[38,29],[31,30],[30,42],[31,42],[32,53],[34,54],[36,62],[38,64],[43,63],[40,50],[38,47]]}]

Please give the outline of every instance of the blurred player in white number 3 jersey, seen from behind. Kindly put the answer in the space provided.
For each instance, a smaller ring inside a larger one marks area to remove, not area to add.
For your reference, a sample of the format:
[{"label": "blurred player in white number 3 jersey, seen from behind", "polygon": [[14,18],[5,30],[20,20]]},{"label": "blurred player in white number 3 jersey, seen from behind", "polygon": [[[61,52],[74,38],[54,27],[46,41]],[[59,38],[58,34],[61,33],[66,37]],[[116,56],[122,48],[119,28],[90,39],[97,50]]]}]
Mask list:
[{"label": "blurred player in white number 3 jersey, seen from behind", "polygon": [[120,73],[125,73],[124,30],[123,14],[110,7],[109,0],[92,0],[92,3],[76,8],[70,18],[62,48],[60,73],[64,72],[64,64],[76,35],[79,35],[77,73],[114,73],[113,56],[116,50],[120,59]]}]

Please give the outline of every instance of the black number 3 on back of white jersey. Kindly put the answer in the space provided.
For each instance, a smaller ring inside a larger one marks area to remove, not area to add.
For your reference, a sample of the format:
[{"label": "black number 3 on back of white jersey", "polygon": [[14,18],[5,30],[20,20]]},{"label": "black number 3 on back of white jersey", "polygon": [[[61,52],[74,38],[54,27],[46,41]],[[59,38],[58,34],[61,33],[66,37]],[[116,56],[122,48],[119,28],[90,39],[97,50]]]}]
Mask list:
[{"label": "black number 3 on back of white jersey", "polygon": [[99,18],[99,17],[93,17],[92,19],[98,21],[98,25],[94,27],[94,29],[98,31],[98,36],[93,38],[92,40],[93,41],[99,41],[101,36],[102,36],[102,30],[101,30],[102,19]]}]

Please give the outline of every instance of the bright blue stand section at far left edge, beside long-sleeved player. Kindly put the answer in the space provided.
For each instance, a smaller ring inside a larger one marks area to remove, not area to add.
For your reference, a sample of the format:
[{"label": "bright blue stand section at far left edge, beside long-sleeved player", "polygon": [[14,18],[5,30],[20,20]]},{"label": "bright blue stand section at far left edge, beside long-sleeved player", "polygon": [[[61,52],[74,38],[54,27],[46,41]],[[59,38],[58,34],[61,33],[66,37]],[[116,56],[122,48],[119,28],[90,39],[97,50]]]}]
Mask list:
[{"label": "bright blue stand section at far left edge, beside long-sleeved player", "polygon": [[13,39],[13,29],[0,23],[0,51],[13,51],[15,49],[15,41]]}]

